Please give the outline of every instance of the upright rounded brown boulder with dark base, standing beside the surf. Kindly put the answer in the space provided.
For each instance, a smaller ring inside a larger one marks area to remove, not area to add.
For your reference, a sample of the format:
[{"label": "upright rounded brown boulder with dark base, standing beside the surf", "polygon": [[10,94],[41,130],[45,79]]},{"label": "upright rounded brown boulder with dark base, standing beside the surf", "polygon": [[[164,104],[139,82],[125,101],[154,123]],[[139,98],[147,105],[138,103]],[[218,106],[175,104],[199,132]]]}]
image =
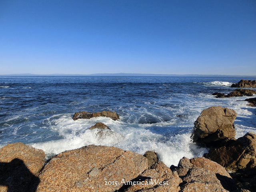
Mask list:
[{"label": "upright rounded brown boulder with dark base, standing beside the surf", "polygon": [[229,108],[212,106],[203,110],[194,122],[193,142],[212,147],[234,139],[235,118],[236,112]]}]

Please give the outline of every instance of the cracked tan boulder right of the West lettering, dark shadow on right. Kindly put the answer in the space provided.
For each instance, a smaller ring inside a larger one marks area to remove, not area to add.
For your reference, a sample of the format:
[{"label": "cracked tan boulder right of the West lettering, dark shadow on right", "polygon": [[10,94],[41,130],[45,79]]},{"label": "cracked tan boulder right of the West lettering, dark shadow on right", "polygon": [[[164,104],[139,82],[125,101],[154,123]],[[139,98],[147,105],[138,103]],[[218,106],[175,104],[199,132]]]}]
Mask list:
[{"label": "cracked tan boulder right of the West lettering, dark shadow on right", "polygon": [[236,184],[225,168],[204,157],[184,157],[173,171],[182,178],[182,192],[236,190]]}]

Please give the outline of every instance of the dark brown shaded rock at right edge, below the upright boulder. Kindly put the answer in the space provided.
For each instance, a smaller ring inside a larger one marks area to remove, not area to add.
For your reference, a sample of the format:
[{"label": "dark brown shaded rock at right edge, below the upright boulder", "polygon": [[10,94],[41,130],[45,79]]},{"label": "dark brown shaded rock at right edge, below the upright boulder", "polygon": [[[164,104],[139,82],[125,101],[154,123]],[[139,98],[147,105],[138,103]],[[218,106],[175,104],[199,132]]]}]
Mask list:
[{"label": "dark brown shaded rock at right edge, below the upright boulder", "polygon": [[204,156],[233,172],[256,168],[256,134],[248,132],[225,146],[211,149]]}]

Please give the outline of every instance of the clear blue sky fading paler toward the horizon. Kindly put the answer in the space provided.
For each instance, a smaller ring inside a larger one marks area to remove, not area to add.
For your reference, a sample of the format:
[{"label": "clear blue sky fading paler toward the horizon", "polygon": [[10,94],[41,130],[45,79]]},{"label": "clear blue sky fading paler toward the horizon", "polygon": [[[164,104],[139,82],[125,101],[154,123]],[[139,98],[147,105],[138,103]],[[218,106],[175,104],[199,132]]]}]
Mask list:
[{"label": "clear blue sky fading paler toward the horizon", "polygon": [[256,75],[255,0],[0,0],[0,74]]}]

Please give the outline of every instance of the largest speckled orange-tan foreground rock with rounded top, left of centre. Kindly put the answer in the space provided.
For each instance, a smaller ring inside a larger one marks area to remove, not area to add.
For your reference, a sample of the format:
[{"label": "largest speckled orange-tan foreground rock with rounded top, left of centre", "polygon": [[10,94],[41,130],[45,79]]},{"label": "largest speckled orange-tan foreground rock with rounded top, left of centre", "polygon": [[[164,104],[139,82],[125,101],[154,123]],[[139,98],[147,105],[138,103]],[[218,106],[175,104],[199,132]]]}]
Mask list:
[{"label": "largest speckled orange-tan foreground rock with rounded top, left of centre", "polygon": [[40,172],[37,191],[114,192],[148,168],[148,160],[116,147],[84,146],[62,152]]}]

